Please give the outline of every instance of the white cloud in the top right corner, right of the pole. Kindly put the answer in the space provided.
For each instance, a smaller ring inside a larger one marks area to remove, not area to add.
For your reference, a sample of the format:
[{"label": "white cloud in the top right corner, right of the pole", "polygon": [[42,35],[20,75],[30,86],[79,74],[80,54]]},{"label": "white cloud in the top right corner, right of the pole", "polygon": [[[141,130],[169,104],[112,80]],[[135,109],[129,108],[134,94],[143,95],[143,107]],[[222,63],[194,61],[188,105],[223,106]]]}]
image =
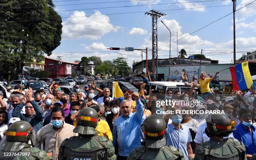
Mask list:
[{"label": "white cloud in the top right corner, right of the pole", "polygon": [[[236,7],[236,8],[238,9],[238,8],[245,6],[245,5],[241,5],[241,4],[249,4],[251,2],[253,2],[253,0],[241,0],[240,5],[238,5],[238,7]],[[241,15],[243,17],[249,17],[249,16],[256,15],[256,4],[254,2],[254,4],[247,5],[246,7],[243,7],[241,10],[238,10],[237,12],[239,15]]]}]

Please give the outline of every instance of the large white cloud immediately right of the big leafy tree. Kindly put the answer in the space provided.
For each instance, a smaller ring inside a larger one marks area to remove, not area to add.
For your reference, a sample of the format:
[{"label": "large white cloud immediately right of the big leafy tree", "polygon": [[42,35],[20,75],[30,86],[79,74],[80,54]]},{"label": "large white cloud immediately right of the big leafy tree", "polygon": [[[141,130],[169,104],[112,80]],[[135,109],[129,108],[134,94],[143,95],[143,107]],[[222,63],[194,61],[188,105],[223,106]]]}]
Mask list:
[{"label": "large white cloud immediately right of the big leafy tree", "polygon": [[120,27],[113,26],[107,15],[101,15],[100,11],[95,11],[90,17],[85,17],[83,11],[74,11],[71,17],[62,23],[62,38],[99,40],[103,35],[109,32],[117,32]]}]

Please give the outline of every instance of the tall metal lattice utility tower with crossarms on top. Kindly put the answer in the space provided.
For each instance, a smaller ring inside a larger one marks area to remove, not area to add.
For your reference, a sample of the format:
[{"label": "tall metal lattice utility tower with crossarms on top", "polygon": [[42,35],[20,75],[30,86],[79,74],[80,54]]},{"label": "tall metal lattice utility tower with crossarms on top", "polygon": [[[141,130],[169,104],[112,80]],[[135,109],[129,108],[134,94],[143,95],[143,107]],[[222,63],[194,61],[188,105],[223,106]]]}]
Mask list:
[{"label": "tall metal lattice utility tower with crossarms on top", "polygon": [[158,75],[158,55],[157,55],[157,19],[166,14],[151,10],[151,13],[146,12],[145,14],[150,15],[152,18],[152,75],[153,80],[157,81]]}]

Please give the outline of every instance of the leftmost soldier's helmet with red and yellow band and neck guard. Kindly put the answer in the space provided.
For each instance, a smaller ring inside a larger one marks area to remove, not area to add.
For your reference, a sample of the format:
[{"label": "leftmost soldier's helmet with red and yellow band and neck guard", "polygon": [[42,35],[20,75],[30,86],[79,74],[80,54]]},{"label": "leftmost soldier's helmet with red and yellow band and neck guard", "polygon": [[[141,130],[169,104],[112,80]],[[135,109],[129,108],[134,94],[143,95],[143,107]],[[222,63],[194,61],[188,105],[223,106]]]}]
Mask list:
[{"label": "leftmost soldier's helmet with red and yellow band and neck guard", "polygon": [[29,122],[18,121],[12,123],[7,130],[6,140],[3,150],[4,151],[20,151],[24,148],[25,144],[31,139],[32,126]]}]

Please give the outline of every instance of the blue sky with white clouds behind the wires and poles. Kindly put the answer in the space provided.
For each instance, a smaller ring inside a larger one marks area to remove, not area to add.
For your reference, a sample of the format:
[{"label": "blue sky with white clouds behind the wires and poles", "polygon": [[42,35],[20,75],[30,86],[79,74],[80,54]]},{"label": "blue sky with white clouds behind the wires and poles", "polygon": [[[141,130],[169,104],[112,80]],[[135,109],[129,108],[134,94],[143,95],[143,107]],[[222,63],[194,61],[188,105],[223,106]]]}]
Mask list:
[{"label": "blue sky with white clouds behind the wires and poles", "polygon": [[[219,60],[220,63],[230,63],[233,59],[233,14],[218,20],[233,11],[231,0],[54,1],[55,10],[61,15],[63,21],[63,33],[61,45],[54,50],[52,58],[63,55],[62,60],[74,62],[74,60],[81,60],[83,56],[97,56],[101,57],[101,60],[112,60],[121,55],[110,52],[106,49],[107,47],[148,47],[148,59],[151,59],[151,17],[145,15],[143,11],[154,9],[166,13],[158,20],[159,58],[169,56],[169,31],[160,22],[163,20],[172,32],[172,57],[177,57],[175,41],[178,31],[178,39],[184,37],[178,41],[178,50],[184,48],[188,55],[192,55],[199,54],[203,49],[206,57]],[[237,9],[253,1],[238,0]],[[128,14],[108,15],[113,13]],[[236,18],[236,57],[238,59],[242,54],[256,50],[256,2],[238,10]],[[189,35],[214,20],[218,21]],[[130,66],[133,61],[141,60],[140,51],[120,51],[120,53],[127,58]],[[146,59],[145,54],[143,59]]]}]

